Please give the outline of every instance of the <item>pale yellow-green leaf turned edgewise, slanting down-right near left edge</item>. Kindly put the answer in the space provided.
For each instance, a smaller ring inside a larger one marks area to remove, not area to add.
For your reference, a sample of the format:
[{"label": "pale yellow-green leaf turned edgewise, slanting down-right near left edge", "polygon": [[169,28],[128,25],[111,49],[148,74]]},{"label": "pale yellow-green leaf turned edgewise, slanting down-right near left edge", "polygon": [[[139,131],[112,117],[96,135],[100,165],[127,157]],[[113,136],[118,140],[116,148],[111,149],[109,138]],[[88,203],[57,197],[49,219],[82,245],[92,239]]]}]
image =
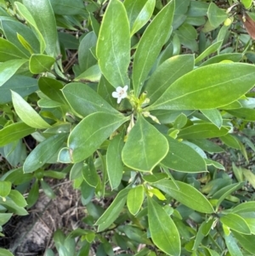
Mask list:
[{"label": "pale yellow-green leaf turned edgewise, slanting down-right near left edge", "polygon": [[12,99],[14,109],[20,119],[32,128],[50,128],[48,122],[45,122],[42,117],[39,116],[31,105],[24,100],[19,94],[12,91]]}]

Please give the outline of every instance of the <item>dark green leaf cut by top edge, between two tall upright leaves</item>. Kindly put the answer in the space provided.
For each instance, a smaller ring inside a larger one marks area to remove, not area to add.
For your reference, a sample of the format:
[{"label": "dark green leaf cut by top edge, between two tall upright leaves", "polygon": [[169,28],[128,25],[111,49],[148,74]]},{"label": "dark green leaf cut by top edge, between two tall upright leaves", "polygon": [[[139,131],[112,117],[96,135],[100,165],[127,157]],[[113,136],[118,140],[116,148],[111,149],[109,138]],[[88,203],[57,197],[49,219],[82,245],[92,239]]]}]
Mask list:
[{"label": "dark green leaf cut by top edge, between two tall upright leaves", "polygon": [[84,14],[84,3],[82,0],[76,0],[70,2],[70,0],[50,0],[52,8],[54,9],[55,14],[60,15],[76,15]]}]

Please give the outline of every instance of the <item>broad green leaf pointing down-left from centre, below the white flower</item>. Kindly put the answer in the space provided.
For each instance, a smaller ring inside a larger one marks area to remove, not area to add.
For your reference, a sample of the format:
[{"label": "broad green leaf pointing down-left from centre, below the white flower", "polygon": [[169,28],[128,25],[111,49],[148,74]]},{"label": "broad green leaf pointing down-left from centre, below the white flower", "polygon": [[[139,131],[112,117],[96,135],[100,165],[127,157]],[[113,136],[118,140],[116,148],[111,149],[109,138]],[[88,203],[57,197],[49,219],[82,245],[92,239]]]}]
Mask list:
[{"label": "broad green leaf pointing down-left from centre, below the white flower", "polygon": [[96,112],[85,117],[68,138],[72,161],[81,162],[91,156],[127,119],[128,117],[108,112]]}]

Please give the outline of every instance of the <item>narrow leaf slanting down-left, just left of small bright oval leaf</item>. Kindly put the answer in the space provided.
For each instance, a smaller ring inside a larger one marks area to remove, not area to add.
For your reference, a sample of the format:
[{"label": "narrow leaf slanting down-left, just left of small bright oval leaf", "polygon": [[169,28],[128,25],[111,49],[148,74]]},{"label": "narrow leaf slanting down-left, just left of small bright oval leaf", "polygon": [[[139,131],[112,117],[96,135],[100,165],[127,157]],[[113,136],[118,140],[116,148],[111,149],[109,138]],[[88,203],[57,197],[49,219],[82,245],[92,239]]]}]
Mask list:
[{"label": "narrow leaf slanting down-left, just left of small bright oval leaf", "polygon": [[107,229],[117,219],[126,202],[128,191],[129,189],[120,191],[114,201],[111,202],[111,206],[106,209],[105,213],[103,213],[103,215],[94,224],[99,225],[98,232]]}]

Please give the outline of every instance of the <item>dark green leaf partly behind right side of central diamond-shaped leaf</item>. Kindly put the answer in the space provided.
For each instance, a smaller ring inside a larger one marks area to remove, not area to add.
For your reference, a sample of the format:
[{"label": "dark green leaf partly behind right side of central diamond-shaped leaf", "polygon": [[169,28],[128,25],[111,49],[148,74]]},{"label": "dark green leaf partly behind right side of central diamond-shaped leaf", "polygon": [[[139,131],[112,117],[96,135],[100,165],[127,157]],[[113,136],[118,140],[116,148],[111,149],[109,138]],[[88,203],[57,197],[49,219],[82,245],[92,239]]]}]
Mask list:
[{"label": "dark green leaf partly behind right side of central diamond-shaped leaf", "polygon": [[[184,173],[201,173],[207,171],[204,159],[189,145],[167,136],[169,151],[161,164],[167,168]],[[184,157],[185,156],[185,157]]]}]

